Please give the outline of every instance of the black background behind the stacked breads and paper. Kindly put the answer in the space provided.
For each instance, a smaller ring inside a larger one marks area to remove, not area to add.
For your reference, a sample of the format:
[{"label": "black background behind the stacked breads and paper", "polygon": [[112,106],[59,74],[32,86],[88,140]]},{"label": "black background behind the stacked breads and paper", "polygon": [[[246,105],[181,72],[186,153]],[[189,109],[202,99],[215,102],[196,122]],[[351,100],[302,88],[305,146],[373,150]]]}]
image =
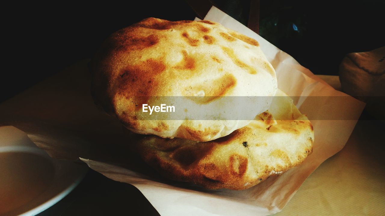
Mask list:
[{"label": "black background behind the stacked breads and paper", "polygon": [[[250,0],[211,1],[247,24]],[[260,35],[315,74],[338,75],[350,52],[385,45],[384,1],[261,0]],[[0,102],[83,58],[110,33],[157,17],[192,20],[183,1],[14,3],[3,7]],[[293,26],[293,24],[296,26]]]}]

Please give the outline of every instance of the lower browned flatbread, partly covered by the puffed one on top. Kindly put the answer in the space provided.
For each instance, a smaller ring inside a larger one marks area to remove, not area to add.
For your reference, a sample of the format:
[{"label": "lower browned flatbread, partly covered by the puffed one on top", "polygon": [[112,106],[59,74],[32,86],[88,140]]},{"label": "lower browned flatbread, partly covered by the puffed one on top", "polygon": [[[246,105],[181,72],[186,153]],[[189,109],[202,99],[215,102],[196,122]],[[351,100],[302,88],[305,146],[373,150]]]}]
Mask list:
[{"label": "lower browned flatbread, partly covered by the puffed one on top", "polygon": [[165,177],[209,189],[235,190],[300,165],[312,153],[314,140],[308,118],[280,90],[268,111],[217,140],[131,135],[133,150]]}]

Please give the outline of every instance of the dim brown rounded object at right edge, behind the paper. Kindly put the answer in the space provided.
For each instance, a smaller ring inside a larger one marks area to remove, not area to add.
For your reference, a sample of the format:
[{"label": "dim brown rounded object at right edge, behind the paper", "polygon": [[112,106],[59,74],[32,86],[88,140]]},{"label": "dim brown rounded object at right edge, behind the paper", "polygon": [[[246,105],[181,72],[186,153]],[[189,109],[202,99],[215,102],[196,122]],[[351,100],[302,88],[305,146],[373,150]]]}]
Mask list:
[{"label": "dim brown rounded object at right edge, behind the paper", "polygon": [[342,90],[367,103],[365,109],[385,120],[385,47],[349,53],[340,65]]}]

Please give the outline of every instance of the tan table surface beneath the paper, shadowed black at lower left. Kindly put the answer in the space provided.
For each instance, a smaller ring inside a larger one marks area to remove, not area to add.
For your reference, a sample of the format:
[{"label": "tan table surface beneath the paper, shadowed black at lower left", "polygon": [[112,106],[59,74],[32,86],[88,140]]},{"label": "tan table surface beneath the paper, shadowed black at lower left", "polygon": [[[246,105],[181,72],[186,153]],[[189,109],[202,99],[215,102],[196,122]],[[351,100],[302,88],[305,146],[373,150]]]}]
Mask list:
[{"label": "tan table surface beneath the paper, shadowed black at lower left", "polygon": [[[340,89],[337,76],[320,76]],[[322,163],[276,215],[380,215],[385,210],[383,122],[365,111],[346,146]],[[134,186],[89,170],[64,199],[38,214],[159,215]]]}]

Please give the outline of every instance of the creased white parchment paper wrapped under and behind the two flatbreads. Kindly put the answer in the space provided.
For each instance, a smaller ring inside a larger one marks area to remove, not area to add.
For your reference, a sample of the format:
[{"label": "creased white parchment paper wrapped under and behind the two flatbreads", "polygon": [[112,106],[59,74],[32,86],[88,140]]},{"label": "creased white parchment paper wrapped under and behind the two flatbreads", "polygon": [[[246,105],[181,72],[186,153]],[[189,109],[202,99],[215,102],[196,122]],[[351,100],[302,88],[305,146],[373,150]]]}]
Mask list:
[{"label": "creased white parchment paper wrapped under and behind the two flatbreads", "polygon": [[[208,190],[164,179],[130,154],[120,123],[93,104],[87,60],[3,103],[0,123],[25,131],[52,157],[81,158],[108,178],[136,186],[161,215],[268,215],[280,211],[303,181],[343,148],[365,104],[334,90],[218,8],[211,8],[205,20],[256,39],[276,70],[278,87],[290,96],[301,96],[295,97],[295,103],[308,115],[315,131],[313,153],[301,166],[243,191]],[[308,96],[325,97],[313,100]]]}]

